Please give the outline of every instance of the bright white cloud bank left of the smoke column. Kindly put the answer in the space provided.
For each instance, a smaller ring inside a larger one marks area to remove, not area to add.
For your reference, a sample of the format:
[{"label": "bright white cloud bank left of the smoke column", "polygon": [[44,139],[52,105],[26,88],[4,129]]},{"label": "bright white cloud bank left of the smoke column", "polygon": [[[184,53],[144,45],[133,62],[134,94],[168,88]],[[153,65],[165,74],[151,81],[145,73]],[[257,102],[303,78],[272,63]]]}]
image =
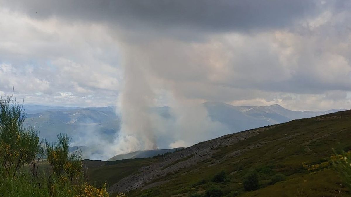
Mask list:
[{"label": "bright white cloud bank left of the smoke column", "polygon": [[[37,20],[0,9],[0,87],[25,103],[114,105],[121,72],[118,42],[104,24]],[[36,94],[41,92],[41,94]],[[57,97],[71,92],[72,96]],[[95,95],[86,99],[87,95]]]}]

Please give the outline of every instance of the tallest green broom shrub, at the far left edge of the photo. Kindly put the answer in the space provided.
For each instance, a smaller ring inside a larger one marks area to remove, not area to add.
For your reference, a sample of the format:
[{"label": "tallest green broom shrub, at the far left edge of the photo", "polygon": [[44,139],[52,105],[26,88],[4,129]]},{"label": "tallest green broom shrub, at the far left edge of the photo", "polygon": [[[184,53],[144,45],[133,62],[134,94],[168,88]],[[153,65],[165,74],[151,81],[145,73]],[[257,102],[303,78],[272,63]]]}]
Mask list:
[{"label": "tallest green broom shrub, at the far left edge of the photo", "polygon": [[23,103],[12,96],[0,97],[0,160],[7,174],[18,172],[24,164],[31,167],[33,176],[37,171],[37,155],[42,153],[39,131],[23,125],[26,116]]}]

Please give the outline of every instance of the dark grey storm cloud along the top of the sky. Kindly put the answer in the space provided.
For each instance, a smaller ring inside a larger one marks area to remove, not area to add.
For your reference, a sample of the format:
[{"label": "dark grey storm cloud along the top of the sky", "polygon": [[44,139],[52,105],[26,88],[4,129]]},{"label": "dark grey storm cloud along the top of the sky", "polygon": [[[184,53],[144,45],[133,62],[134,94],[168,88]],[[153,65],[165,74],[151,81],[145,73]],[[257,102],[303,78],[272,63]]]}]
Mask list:
[{"label": "dark grey storm cloud along the top of the sky", "polygon": [[306,0],[24,0],[7,5],[38,19],[54,16],[133,29],[205,32],[286,27],[296,19],[316,14],[317,9],[314,1]]}]

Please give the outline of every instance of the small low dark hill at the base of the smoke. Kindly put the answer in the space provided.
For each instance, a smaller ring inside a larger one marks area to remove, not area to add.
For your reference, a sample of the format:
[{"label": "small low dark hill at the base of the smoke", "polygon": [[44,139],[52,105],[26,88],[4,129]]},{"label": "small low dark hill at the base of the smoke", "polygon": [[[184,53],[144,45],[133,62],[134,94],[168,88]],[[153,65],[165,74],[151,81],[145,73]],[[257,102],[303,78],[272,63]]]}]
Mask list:
[{"label": "small low dark hill at the base of the smoke", "polygon": [[175,151],[182,150],[184,148],[173,148],[173,149],[158,149],[158,150],[139,150],[135,152],[130,152],[127,154],[122,154],[122,155],[116,155],[107,161],[115,161],[115,160],[121,160],[121,159],[138,159],[138,158],[147,158],[147,157],[153,157],[157,155],[164,155],[167,153],[172,153]]}]

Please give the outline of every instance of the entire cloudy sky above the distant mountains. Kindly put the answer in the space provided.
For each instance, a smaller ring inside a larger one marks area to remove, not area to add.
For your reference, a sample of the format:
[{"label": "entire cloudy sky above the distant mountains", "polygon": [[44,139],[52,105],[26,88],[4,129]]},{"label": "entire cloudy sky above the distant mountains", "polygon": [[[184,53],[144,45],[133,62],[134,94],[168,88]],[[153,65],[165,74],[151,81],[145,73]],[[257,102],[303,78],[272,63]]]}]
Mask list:
[{"label": "entire cloudy sky above the distant mountains", "polygon": [[347,0],[0,0],[0,95],[350,109],[350,9]]}]

